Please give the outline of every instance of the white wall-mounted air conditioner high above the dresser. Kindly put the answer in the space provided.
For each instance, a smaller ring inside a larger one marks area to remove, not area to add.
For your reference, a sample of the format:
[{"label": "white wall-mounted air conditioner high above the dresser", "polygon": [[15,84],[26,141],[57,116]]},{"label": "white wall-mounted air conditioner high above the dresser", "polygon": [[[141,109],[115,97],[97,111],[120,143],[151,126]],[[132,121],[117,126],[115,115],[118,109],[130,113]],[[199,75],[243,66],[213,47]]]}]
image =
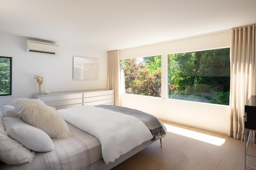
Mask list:
[{"label": "white wall-mounted air conditioner high above the dresser", "polygon": [[37,53],[47,53],[57,55],[59,52],[59,45],[52,43],[45,43],[41,41],[27,40],[26,51]]}]

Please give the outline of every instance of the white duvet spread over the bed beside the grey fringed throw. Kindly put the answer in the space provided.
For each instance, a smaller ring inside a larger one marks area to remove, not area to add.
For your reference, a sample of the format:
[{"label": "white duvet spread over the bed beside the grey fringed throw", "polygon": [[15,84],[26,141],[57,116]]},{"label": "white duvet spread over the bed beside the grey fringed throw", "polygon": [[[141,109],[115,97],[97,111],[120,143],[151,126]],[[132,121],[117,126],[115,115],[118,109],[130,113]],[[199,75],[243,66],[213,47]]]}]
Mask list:
[{"label": "white duvet spread over the bed beside the grey fringed throw", "polygon": [[59,109],[58,113],[64,120],[99,139],[106,164],[152,139],[146,125],[130,115],[94,106]]}]

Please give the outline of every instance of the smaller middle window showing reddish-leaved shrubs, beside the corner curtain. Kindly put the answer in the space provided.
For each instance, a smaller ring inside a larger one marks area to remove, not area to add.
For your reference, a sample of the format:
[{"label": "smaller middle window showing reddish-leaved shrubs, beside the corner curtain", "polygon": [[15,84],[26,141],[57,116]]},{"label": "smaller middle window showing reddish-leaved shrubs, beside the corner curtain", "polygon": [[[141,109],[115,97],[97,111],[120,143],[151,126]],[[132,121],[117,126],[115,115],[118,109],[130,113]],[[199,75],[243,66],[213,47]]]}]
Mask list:
[{"label": "smaller middle window showing reddish-leaved shrubs, beside the corner curtain", "polygon": [[124,59],[120,68],[126,93],[161,97],[161,56]]}]

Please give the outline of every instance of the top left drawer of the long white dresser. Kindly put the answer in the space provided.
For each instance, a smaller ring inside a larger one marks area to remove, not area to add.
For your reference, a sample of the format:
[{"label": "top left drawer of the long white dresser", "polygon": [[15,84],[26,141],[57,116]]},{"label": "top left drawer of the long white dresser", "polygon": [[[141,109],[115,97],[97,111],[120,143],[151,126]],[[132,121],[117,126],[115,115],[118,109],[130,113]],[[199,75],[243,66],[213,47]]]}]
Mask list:
[{"label": "top left drawer of the long white dresser", "polygon": [[83,98],[83,93],[78,94],[60,94],[52,96],[40,96],[39,99],[43,102],[57,101],[57,100],[69,100]]}]

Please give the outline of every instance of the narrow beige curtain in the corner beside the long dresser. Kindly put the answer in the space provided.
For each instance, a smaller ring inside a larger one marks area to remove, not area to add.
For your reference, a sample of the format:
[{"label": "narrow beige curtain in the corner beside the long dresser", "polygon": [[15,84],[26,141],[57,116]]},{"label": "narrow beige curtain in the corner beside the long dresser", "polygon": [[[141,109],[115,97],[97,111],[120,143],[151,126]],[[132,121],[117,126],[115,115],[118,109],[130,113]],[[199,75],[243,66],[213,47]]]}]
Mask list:
[{"label": "narrow beige curtain in the corner beside the long dresser", "polygon": [[107,88],[114,90],[114,105],[121,106],[120,97],[120,51],[108,52]]}]

